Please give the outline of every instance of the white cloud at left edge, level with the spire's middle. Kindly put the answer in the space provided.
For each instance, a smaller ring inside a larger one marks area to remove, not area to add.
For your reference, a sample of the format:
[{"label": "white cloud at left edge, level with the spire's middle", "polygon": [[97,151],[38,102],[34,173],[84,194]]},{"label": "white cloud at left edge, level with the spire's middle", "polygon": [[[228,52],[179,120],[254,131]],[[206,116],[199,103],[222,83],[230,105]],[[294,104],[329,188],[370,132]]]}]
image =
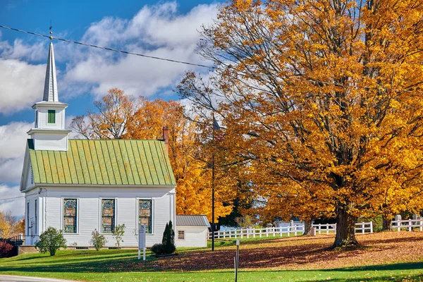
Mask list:
[{"label": "white cloud at left edge, level with the spire's middle", "polygon": [[0,59],[0,113],[28,109],[44,90],[46,66],[16,59]]}]

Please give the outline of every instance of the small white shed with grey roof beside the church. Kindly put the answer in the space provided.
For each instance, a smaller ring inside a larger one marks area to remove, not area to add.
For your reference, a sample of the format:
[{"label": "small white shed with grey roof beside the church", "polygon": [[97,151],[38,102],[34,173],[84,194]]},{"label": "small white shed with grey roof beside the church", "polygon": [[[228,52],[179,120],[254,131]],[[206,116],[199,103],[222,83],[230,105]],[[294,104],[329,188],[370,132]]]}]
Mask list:
[{"label": "small white shed with grey roof beside the church", "polygon": [[207,247],[210,223],[207,216],[176,215],[176,247]]}]

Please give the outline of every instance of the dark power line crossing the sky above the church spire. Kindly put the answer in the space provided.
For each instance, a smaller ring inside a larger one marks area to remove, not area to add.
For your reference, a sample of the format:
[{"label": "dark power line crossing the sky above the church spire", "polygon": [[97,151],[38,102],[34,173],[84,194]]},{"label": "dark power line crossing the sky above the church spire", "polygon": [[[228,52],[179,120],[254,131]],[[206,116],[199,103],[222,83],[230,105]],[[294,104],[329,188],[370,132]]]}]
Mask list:
[{"label": "dark power line crossing the sky above the church spire", "polygon": [[93,47],[93,48],[103,49],[103,50],[108,50],[108,51],[114,51],[114,52],[128,54],[128,55],[141,56],[141,57],[145,57],[145,58],[149,58],[149,59],[156,59],[156,60],[161,60],[161,61],[169,61],[171,63],[183,63],[185,65],[200,66],[202,68],[209,68],[209,69],[212,69],[213,68],[211,66],[205,66],[205,65],[198,64],[198,63],[189,63],[189,62],[186,62],[186,61],[178,61],[178,60],[173,60],[173,59],[161,58],[161,57],[157,57],[157,56],[148,56],[148,55],[144,55],[144,54],[138,54],[138,53],[133,53],[133,52],[129,52],[129,51],[123,51],[123,50],[108,48],[108,47],[101,47],[101,46],[97,46],[97,45],[93,45],[93,44],[82,43],[82,42],[68,40],[68,39],[63,39],[63,38],[59,38],[59,37],[53,37],[53,36],[49,36],[49,35],[42,35],[42,34],[39,34],[39,33],[30,32],[30,31],[26,31],[26,30],[19,30],[18,28],[7,27],[5,25],[0,25],[0,27],[1,28],[5,28],[6,30],[13,30],[13,31],[17,31],[17,32],[23,32],[23,33],[26,33],[28,35],[35,35],[35,36],[39,36],[39,37],[46,37],[46,38],[49,38],[49,39],[56,39],[56,40],[63,41],[63,42],[75,43],[75,44],[79,44],[79,45],[82,45],[82,46]]}]

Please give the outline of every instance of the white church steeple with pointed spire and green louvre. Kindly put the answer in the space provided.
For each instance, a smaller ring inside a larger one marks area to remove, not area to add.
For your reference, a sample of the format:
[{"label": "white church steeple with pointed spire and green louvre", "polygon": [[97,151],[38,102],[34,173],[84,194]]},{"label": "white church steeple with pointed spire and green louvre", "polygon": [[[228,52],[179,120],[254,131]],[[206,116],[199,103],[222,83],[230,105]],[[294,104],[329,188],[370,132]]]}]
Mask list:
[{"label": "white church steeple with pointed spire and green louvre", "polygon": [[54,48],[53,43],[50,42],[44,94],[42,101],[32,106],[32,109],[35,109],[35,126],[27,132],[34,140],[36,150],[68,150],[68,135],[71,130],[65,129],[65,109],[67,107],[68,104],[59,102]]}]

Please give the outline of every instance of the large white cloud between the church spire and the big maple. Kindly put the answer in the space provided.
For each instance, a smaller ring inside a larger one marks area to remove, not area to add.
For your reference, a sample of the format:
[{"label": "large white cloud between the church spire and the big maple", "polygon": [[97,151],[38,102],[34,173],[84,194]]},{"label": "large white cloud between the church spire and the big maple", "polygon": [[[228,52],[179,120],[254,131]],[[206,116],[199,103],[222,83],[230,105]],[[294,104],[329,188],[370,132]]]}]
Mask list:
[{"label": "large white cloud between the church spire and the big maple", "polygon": [[[196,6],[187,14],[178,13],[176,2],[144,6],[130,20],[107,17],[92,23],[82,39],[147,56],[204,63],[195,54],[198,30],[210,23],[217,11],[216,4]],[[173,86],[180,75],[195,68],[95,49],[87,50],[85,56],[68,63],[66,85],[85,85],[82,89],[88,87],[97,95],[105,94],[111,87],[120,87],[129,94],[148,97]]]}]

